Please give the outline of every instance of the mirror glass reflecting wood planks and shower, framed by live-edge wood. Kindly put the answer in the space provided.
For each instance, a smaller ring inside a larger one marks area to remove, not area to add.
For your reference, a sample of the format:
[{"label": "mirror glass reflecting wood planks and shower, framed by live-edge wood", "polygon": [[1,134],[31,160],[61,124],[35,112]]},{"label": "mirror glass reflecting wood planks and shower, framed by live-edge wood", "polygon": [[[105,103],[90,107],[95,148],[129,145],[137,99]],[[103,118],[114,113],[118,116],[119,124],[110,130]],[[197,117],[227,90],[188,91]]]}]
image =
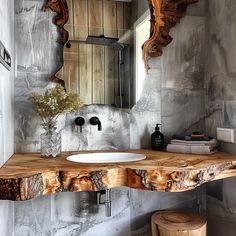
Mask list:
[{"label": "mirror glass reflecting wood planks and shower, framed by live-edge wood", "polygon": [[149,38],[147,0],[67,0],[64,66],[56,74],[84,104],[130,109],[142,90],[142,44]]}]

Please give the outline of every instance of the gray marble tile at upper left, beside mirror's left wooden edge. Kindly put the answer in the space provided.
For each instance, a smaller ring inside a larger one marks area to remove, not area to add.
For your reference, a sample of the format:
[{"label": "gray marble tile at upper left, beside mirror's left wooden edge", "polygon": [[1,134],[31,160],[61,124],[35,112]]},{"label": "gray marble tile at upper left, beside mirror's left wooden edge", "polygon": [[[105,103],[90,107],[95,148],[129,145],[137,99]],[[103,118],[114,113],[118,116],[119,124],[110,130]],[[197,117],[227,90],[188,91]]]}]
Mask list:
[{"label": "gray marble tile at upper left, beside mirror's left wooden edge", "polygon": [[[43,3],[43,0],[15,1],[18,71],[48,75],[59,66],[55,61],[61,61],[62,51],[57,50],[60,47],[56,43],[57,27],[52,24],[55,14],[42,11]],[[22,57],[26,53],[27,57]]]}]

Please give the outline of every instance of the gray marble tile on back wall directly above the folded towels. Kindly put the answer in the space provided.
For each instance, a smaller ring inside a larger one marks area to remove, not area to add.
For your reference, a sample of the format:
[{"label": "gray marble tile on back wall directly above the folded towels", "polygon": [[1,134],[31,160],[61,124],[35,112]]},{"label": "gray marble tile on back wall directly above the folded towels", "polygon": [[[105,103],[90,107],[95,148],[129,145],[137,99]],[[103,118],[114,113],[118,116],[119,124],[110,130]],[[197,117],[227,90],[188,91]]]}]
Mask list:
[{"label": "gray marble tile on back wall directly above the folded towels", "polygon": [[162,89],[162,101],[162,126],[167,141],[173,134],[205,131],[204,91]]}]

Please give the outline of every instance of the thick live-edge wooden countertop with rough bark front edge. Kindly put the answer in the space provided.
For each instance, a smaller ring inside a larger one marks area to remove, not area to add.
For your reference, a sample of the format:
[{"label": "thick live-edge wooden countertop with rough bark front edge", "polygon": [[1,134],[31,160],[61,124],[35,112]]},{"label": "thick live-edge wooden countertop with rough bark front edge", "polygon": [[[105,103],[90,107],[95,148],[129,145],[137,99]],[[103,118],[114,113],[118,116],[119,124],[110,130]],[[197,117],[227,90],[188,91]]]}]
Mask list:
[{"label": "thick live-edge wooden countertop with rough bark front edge", "polygon": [[[94,152],[94,151],[90,151]],[[109,151],[110,152],[110,151]],[[161,192],[181,192],[205,182],[236,176],[236,155],[190,155],[128,150],[147,156],[129,163],[79,164],[40,154],[14,154],[0,168],[0,199],[23,201],[56,192],[98,191],[127,186]]]}]

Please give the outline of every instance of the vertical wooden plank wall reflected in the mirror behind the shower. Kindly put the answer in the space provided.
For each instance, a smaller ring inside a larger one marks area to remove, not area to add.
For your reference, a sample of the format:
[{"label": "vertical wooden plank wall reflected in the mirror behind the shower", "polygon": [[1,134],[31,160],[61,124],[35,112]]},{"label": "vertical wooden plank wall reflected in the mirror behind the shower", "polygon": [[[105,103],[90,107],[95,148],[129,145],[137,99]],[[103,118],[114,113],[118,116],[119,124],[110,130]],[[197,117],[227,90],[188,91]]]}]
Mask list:
[{"label": "vertical wooden plank wall reflected in the mirror behind the shower", "polygon": [[[70,14],[65,29],[71,47],[64,47],[64,66],[56,76],[63,78],[69,92],[80,94],[85,104],[119,104],[118,51],[85,41],[88,35],[122,37],[130,30],[130,3],[111,0],[67,3]],[[123,103],[129,106],[129,102]]]}]

